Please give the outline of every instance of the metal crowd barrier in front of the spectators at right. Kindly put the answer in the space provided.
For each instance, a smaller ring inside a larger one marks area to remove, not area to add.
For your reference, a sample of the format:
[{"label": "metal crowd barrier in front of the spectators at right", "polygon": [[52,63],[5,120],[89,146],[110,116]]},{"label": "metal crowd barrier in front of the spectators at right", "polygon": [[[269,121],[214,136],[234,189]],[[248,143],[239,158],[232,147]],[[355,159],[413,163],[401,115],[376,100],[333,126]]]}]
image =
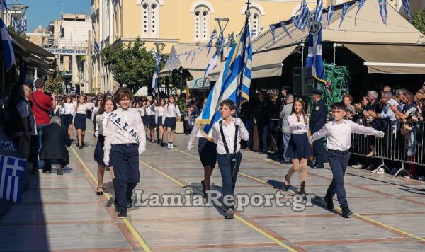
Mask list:
[{"label": "metal crowd barrier in front of the spectators at right", "polygon": [[403,122],[389,122],[382,127],[385,137],[378,139],[363,134],[352,134],[351,154],[367,156],[382,160],[373,173],[382,171],[382,168],[390,171],[385,166],[385,160],[400,162],[402,167],[395,173],[394,178],[404,171],[404,164],[416,164],[425,166],[425,122],[413,122],[405,127]]}]

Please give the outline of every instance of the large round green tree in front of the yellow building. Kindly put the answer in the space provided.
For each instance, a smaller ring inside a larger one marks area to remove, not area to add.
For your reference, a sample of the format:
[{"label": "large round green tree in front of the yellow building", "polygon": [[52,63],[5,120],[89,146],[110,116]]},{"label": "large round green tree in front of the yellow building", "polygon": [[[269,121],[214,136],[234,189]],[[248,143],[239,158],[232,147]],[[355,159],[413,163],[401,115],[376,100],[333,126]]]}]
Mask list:
[{"label": "large round green tree in front of the yellow building", "polygon": [[152,84],[154,58],[152,51],[146,49],[145,42],[140,38],[127,45],[120,44],[118,49],[108,45],[103,48],[101,56],[119,84],[125,84],[135,91]]}]

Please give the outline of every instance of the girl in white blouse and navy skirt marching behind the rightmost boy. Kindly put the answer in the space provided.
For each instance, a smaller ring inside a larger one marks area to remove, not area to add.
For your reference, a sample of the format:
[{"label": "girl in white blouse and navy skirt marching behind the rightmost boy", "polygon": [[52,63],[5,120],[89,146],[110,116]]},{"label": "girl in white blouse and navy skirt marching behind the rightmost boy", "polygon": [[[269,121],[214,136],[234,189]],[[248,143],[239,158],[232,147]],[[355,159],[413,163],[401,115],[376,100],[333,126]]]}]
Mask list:
[{"label": "girl in white blouse and navy skirt marching behind the rightmost boy", "polygon": [[286,190],[290,188],[290,178],[295,171],[301,166],[301,186],[300,194],[305,194],[305,180],[307,179],[307,159],[312,156],[313,151],[310,143],[308,142],[308,118],[304,112],[305,103],[301,98],[295,98],[293,103],[293,112],[286,118],[290,127],[290,140],[286,157],[293,161],[293,167],[290,168],[288,174],[285,176],[283,186]]}]

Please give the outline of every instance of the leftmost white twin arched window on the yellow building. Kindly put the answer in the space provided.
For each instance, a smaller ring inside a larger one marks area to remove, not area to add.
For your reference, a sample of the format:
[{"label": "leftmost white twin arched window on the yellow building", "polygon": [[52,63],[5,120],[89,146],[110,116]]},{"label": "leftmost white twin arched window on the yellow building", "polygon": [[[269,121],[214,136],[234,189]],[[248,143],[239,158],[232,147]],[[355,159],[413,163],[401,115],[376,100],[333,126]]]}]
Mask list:
[{"label": "leftmost white twin arched window on the yellow building", "polygon": [[159,4],[157,0],[142,1],[142,37],[159,37]]}]

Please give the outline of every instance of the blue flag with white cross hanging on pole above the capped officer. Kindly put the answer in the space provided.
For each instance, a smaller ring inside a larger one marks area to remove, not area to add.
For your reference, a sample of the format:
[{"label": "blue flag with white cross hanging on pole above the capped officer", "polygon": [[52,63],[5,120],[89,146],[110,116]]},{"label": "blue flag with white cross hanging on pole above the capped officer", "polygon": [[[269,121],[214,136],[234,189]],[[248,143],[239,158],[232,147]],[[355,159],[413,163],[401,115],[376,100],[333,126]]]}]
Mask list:
[{"label": "blue flag with white cross hanging on pole above the capped officer", "polygon": [[322,29],[317,35],[308,35],[308,57],[306,67],[312,67],[313,77],[318,81],[326,82],[322,56]]}]

